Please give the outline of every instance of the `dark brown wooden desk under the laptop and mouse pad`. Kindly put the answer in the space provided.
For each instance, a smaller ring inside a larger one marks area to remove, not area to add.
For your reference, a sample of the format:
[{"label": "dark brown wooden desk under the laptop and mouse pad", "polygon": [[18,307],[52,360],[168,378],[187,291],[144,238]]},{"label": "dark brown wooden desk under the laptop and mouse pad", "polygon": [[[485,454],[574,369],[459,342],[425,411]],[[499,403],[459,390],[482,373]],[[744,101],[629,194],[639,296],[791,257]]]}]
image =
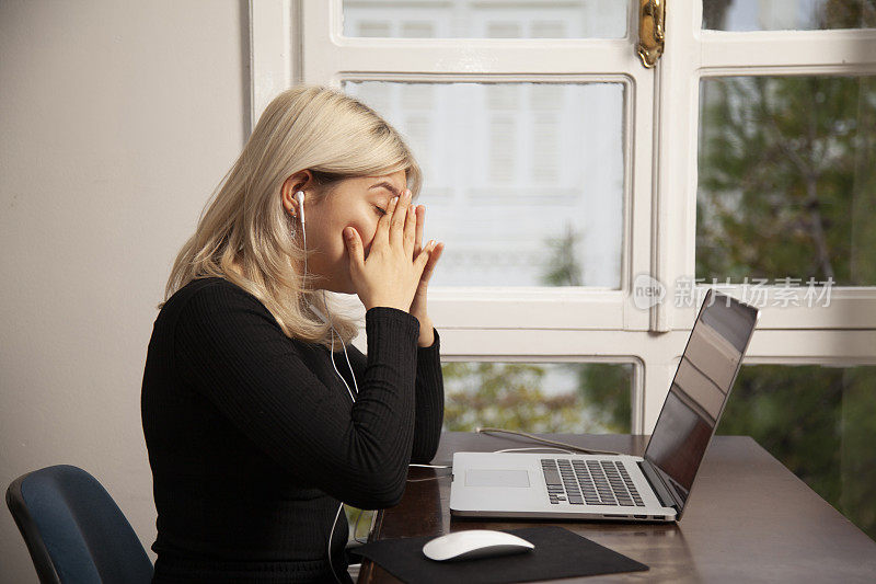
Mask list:
[{"label": "dark brown wooden desk under the laptop and mouse pad", "polygon": [[[570,444],[641,455],[647,436],[545,435]],[[454,451],[534,446],[515,436],[446,433],[435,465]],[[552,522],[450,517],[449,469],[411,469],[397,506],[378,513],[369,540],[512,529]],[[876,542],[747,436],[716,436],[678,524],[556,522],[650,566],[555,582],[876,582]],[[358,582],[397,582],[362,563]]]}]

